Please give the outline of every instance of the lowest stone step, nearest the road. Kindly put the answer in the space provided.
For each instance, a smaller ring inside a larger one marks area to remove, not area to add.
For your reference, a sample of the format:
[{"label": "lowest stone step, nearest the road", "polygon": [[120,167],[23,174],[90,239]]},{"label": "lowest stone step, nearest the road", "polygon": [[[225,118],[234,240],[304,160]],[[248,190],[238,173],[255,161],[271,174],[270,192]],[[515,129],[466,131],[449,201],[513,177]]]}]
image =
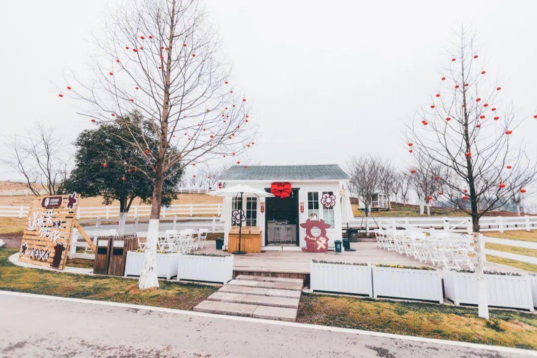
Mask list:
[{"label": "lowest stone step, nearest the road", "polygon": [[194,311],[216,313],[217,315],[284,320],[289,322],[295,322],[297,312],[297,310],[293,308],[220,301],[203,301],[194,307]]}]

